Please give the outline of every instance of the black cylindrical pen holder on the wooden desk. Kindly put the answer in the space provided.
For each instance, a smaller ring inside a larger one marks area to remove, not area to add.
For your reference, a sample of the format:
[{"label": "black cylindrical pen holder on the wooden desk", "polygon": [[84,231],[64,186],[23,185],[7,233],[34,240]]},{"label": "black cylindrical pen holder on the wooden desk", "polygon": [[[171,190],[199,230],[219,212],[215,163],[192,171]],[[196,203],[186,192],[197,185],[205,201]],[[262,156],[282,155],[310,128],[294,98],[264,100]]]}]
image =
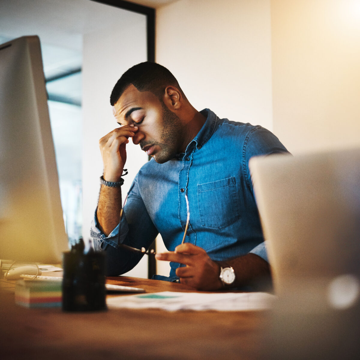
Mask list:
[{"label": "black cylindrical pen holder on the wooden desk", "polygon": [[105,254],[63,253],[62,309],[106,310]]}]

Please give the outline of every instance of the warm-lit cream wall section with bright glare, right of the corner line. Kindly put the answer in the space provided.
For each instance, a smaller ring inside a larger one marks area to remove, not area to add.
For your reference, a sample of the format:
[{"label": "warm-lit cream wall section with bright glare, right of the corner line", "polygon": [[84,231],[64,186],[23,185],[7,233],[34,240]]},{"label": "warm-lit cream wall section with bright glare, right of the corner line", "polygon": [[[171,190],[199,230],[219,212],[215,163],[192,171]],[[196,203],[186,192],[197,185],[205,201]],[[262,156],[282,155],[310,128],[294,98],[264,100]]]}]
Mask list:
[{"label": "warm-lit cream wall section with bright glare, right of the corner line", "polygon": [[272,0],[274,132],[293,153],[360,145],[360,1]]}]

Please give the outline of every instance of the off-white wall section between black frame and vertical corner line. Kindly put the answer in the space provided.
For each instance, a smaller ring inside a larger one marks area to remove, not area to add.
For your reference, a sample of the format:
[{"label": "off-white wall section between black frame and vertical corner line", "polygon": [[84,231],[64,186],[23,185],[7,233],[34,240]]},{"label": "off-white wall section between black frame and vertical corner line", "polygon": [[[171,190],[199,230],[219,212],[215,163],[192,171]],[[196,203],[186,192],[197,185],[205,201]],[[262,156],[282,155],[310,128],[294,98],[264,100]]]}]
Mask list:
[{"label": "off-white wall section between black frame and vertical corner line", "polygon": [[272,129],[270,0],[180,0],[157,9],[156,62],[197,110]]}]

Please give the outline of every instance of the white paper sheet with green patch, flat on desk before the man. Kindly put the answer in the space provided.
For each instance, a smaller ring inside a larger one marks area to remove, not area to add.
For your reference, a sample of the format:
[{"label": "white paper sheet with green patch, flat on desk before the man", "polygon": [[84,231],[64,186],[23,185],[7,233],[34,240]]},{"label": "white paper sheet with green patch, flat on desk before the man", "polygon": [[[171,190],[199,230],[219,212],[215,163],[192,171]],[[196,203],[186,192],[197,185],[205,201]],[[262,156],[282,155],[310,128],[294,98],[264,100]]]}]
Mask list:
[{"label": "white paper sheet with green patch, flat on desk before the man", "polygon": [[265,310],[270,309],[275,295],[265,292],[249,293],[185,293],[164,291],[158,293],[107,298],[109,307],[127,309],[175,310]]}]

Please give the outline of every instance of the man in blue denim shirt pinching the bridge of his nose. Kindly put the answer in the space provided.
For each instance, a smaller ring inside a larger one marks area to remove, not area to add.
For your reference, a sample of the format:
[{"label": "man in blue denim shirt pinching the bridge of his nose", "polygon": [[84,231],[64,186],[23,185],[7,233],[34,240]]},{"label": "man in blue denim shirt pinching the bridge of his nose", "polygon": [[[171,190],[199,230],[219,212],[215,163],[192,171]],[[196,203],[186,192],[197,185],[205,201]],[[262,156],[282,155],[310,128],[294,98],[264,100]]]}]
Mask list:
[{"label": "man in blue denim shirt pinching the bridge of his nose", "polygon": [[[248,162],[286,152],[270,131],[198,112],[168,69],[141,63],[127,70],[111,94],[120,125],[100,139],[104,174],[91,234],[106,250],[108,275],[129,271],[160,233],[170,281],[202,290],[239,287],[270,275]],[[131,185],[122,219],[126,144],[153,157]],[[185,243],[186,198],[190,222]],[[118,238],[118,232],[120,236]]]}]

